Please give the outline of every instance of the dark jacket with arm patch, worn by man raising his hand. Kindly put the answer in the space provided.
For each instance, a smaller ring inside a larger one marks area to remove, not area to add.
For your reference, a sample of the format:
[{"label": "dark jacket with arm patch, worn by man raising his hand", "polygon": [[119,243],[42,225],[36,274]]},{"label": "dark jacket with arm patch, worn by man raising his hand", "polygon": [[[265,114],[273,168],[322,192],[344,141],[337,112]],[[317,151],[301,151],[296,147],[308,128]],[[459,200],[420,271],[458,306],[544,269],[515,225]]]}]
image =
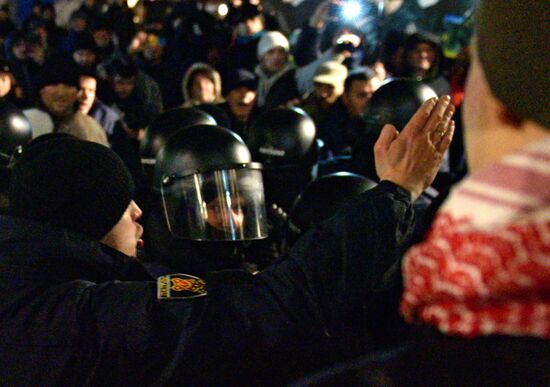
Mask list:
[{"label": "dark jacket with arm patch, worn by man raising his hand", "polygon": [[211,273],[208,295],[158,301],[137,260],[0,217],[0,384],[205,385],[249,369],[277,375],[272,354],[330,336],[385,286],[411,223],[409,194],[383,182],[260,274]]}]

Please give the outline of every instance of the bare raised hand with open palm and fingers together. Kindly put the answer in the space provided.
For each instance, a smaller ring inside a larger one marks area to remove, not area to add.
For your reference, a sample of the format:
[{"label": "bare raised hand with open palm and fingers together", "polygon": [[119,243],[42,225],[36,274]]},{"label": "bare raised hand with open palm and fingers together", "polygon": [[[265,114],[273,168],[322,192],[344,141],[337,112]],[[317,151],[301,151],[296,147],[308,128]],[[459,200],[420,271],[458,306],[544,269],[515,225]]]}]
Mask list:
[{"label": "bare raised hand with open palm and fingers together", "polygon": [[387,124],[374,146],[376,172],[416,199],[434,180],[453,138],[454,106],[449,96],[429,99],[399,133]]}]

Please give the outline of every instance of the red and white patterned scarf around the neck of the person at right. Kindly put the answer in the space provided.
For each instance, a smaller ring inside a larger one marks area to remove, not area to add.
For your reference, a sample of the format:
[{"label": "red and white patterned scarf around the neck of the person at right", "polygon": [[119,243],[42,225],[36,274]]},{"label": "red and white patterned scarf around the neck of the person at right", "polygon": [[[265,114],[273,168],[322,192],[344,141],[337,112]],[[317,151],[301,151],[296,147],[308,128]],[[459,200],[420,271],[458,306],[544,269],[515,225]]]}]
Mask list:
[{"label": "red and white patterned scarf around the neck of the person at right", "polygon": [[550,338],[550,138],[460,183],[403,276],[409,322]]}]

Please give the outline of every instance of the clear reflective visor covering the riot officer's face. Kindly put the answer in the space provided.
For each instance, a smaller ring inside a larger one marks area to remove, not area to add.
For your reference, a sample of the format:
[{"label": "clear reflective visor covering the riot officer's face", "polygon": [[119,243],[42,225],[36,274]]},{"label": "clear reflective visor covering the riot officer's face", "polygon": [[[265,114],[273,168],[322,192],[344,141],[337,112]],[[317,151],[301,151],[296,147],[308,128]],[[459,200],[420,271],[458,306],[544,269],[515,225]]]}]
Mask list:
[{"label": "clear reflective visor covering the riot officer's face", "polygon": [[161,195],[170,232],[207,241],[267,237],[264,188],[258,169],[227,169],[163,180]]}]

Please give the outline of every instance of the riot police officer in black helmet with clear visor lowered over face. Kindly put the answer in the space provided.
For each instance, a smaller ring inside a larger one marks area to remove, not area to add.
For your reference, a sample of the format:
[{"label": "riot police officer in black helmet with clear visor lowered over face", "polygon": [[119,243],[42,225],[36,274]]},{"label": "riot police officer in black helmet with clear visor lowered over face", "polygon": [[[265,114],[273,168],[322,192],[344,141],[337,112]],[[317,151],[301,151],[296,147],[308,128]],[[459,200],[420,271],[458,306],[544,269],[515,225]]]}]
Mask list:
[{"label": "riot police officer in black helmet with clear visor lowered over face", "polygon": [[243,244],[267,237],[261,165],[237,134],[214,125],[179,130],[160,149],[153,181],[145,218],[152,272],[256,270]]}]

